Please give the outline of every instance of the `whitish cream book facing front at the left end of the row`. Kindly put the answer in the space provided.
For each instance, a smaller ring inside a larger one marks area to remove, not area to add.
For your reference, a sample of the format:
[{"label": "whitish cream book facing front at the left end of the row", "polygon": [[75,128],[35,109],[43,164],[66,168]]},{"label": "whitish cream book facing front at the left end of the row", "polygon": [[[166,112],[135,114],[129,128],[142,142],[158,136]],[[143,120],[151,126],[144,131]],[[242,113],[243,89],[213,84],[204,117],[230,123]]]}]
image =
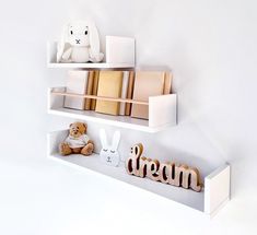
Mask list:
[{"label": "whitish cream book facing front at the left end of the row", "polygon": [[[84,95],[86,93],[89,71],[71,70],[68,72],[67,93]],[[73,109],[84,109],[85,98],[83,97],[65,97],[65,107]]]}]

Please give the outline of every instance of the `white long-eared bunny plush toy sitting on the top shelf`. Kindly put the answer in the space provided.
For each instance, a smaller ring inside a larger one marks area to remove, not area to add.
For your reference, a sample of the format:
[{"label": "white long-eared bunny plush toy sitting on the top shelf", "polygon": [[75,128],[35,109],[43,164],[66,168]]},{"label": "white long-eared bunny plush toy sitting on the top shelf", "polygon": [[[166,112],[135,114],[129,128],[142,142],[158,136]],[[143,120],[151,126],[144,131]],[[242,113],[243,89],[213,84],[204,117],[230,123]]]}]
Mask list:
[{"label": "white long-eared bunny plush toy sitting on the top shelf", "polygon": [[57,62],[100,62],[103,58],[98,32],[93,22],[75,21],[63,27],[57,46]]}]

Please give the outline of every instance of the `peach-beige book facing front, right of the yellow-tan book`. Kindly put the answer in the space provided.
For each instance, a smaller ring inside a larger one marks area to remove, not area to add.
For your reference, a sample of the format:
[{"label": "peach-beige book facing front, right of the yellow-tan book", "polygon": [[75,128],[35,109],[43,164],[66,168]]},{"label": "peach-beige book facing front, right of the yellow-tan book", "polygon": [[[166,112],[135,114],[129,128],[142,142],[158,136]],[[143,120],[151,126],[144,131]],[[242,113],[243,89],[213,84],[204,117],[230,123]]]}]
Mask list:
[{"label": "peach-beige book facing front, right of the yellow-tan book", "polygon": [[[164,71],[137,71],[135,78],[133,99],[148,102],[150,96],[163,94]],[[132,104],[131,117],[149,119],[149,106]]]}]

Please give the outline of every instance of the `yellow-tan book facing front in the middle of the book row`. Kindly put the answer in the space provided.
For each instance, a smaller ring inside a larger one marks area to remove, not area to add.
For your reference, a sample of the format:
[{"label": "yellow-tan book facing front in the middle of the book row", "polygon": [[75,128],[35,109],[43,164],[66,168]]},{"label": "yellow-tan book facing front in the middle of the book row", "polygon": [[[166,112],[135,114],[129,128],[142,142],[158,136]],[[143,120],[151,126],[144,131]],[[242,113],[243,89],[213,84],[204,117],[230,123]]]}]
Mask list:
[{"label": "yellow-tan book facing front in the middle of the book row", "polygon": [[[97,96],[120,98],[122,78],[122,71],[101,71]],[[97,99],[95,111],[109,115],[119,115],[119,102]]]}]

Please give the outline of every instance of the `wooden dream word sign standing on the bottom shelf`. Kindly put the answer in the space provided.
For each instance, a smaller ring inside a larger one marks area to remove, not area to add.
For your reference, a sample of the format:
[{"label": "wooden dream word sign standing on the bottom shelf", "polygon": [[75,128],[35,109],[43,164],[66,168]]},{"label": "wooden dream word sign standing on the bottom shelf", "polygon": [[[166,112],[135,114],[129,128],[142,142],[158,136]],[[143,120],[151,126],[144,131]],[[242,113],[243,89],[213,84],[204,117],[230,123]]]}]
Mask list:
[{"label": "wooden dream word sign standing on the bottom shelf", "polygon": [[126,161],[126,169],[130,175],[144,178],[145,176],[154,181],[191,188],[195,191],[201,191],[202,184],[197,168],[175,163],[162,163],[157,160],[141,156],[143,145],[141,143],[131,148],[129,158]]}]

